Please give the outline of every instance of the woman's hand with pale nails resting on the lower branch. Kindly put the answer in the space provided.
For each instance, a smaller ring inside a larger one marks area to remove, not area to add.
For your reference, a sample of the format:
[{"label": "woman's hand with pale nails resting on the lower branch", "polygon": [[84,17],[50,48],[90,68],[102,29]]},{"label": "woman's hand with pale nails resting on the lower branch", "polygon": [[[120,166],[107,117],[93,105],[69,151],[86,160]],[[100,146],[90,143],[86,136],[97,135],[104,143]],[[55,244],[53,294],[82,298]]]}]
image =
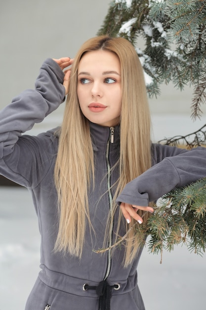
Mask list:
[{"label": "woman's hand with pale nails resting on the lower branch", "polygon": [[135,206],[135,205],[129,205],[126,203],[121,203],[120,205],[121,210],[123,212],[123,215],[127,221],[127,223],[131,222],[131,217],[133,217],[136,221],[138,221],[139,224],[143,222],[143,219],[139,214],[137,214],[138,210],[148,211],[153,213],[154,209],[152,207],[142,207],[142,206]]}]

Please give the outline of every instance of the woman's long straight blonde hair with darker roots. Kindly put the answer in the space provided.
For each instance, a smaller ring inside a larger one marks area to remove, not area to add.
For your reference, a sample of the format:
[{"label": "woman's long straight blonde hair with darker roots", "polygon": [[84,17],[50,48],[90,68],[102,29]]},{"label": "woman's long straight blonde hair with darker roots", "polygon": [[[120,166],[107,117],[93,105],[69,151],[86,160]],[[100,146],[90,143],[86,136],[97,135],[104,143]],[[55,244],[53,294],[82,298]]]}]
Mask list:
[{"label": "woman's long straight blonde hair with darker roots", "polygon": [[[82,45],[72,65],[54,171],[59,201],[55,249],[79,257],[87,221],[91,227],[87,193],[94,182],[94,157],[88,120],[82,114],[77,97],[77,72],[82,55],[100,49],[116,53],[121,63],[120,176],[114,201],[128,182],[151,166],[150,111],[138,55],[124,38],[100,36],[89,39]],[[117,206],[115,211],[118,211]],[[121,215],[118,229],[120,223]],[[138,246],[134,232],[131,232],[125,247],[125,265],[133,260]]]}]

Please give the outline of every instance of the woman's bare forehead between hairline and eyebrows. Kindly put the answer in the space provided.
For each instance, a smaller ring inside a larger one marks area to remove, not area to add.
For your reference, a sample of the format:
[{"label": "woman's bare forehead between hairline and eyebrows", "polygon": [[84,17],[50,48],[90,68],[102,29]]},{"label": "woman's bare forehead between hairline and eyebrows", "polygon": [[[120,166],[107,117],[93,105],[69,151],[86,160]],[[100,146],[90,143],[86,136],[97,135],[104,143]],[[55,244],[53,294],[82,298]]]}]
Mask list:
[{"label": "woman's bare forehead between hairline and eyebrows", "polygon": [[120,71],[120,60],[114,52],[104,50],[86,52],[80,60],[78,71],[89,70],[97,66]]}]

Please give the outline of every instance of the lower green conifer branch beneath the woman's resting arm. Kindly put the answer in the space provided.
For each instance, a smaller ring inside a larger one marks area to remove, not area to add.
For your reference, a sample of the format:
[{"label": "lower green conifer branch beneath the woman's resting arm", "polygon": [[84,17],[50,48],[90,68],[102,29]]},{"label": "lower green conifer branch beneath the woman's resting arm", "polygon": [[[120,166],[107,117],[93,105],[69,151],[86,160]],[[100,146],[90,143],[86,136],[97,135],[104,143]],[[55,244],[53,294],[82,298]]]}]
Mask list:
[{"label": "lower green conifer branch beneath the woman's resting arm", "polygon": [[[163,196],[160,206],[154,206],[154,215],[146,224],[134,223],[115,244],[109,248],[93,250],[103,253],[117,247],[129,232],[135,230],[140,246],[145,246],[145,236],[150,236],[148,250],[161,254],[164,249],[173,251],[174,245],[185,244],[190,252],[202,255],[206,251],[206,178]],[[148,237],[149,238],[149,237]]]}]

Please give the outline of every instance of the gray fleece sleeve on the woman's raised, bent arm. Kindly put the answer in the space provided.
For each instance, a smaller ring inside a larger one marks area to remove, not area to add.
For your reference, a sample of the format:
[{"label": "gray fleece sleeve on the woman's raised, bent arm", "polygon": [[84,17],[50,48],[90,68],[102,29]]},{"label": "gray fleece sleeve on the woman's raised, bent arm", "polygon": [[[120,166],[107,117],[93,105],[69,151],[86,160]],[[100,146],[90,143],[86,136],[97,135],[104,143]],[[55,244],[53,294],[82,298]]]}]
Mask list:
[{"label": "gray fleece sleeve on the woman's raised, bent arm", "polygon": [[21,185],[31,185],[28,174],[32,170],[27,168],[33,166],[35,171],[35,161],[45,160],[43,142],[41,144],[45,136],[38,139],[22,133],[41,122],[64,101],[63,79],[64,73],[58,64],[51,58],[46,59],[35,89],[24,91],[0,111],[0,174]]}]

